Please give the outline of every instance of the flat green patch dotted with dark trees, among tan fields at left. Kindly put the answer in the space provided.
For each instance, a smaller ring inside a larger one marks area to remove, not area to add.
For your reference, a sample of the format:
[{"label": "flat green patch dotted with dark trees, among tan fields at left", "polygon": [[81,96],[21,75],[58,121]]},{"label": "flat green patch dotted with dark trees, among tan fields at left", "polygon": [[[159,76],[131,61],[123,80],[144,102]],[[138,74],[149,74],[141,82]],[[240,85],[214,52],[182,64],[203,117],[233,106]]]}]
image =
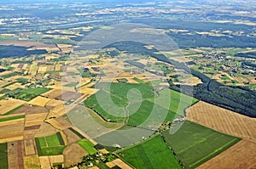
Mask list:
[{"label": "flat green patch dotted with dark trees, among tan fields at left", "polygon": [[24,101],[30,101],[36,98],[38,95],[43,94],[51,90],[50,88],[26,88],[21,90],[15,90],[13,92],[8,93],[9,97],[15,99],[21,99]]}]

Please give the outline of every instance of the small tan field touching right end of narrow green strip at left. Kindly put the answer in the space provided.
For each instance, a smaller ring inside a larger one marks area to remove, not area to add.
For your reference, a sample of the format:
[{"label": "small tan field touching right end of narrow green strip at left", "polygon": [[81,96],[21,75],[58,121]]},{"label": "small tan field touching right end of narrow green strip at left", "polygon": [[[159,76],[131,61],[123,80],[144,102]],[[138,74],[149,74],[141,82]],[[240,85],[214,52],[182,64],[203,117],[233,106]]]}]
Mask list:
[{"label": "small tan field touching right end of narrow green strip at left", "polygon": [[41,125],[48,113],[30,114],[25,116],[25,127]]}]

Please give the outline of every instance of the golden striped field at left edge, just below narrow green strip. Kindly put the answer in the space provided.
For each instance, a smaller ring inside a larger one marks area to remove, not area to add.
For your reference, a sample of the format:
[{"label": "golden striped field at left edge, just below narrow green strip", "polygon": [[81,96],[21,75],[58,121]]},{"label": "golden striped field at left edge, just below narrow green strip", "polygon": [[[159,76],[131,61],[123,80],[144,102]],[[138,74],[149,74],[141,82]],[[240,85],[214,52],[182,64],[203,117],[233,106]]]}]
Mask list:
[{"label": "golden striped field at left edge, just below narrow green strip", "polygon": [[0,143],[23,138],[24,119],[0,122]]}]

